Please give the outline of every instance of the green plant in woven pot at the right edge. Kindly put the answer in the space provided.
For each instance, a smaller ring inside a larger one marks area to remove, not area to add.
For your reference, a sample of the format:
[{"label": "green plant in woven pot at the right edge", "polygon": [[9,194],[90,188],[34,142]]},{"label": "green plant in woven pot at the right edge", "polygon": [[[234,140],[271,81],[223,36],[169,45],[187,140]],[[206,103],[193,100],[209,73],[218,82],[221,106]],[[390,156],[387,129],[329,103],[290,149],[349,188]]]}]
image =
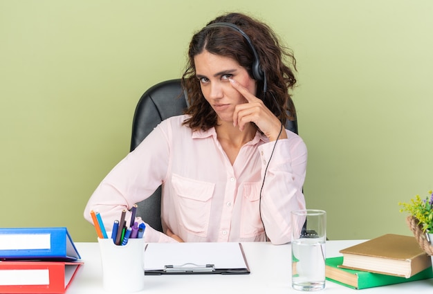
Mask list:
[{"label": "green plant in woven pot at the right edge", "polygon": [[433,193],[425,199],[416,195],[409,203],[398,203],[403,206],[400,212],[408,212],[407,226],[415,235],[416,241],[423,250],[432,257],[433,261]]}]

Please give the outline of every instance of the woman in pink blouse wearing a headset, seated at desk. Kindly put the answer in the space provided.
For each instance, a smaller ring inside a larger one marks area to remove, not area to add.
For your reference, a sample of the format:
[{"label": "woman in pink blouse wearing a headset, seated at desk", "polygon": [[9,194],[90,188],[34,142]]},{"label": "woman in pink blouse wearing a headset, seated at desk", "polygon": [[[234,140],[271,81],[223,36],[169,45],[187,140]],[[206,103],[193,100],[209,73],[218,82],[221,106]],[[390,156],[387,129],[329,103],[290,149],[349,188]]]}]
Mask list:
[{"label": "woman in pink blouse wearing a headset, seated at desk", "polygon": [[306,146],[283,127],[296,82],[284,61],[294,68],[295,58],[266,24],[239,13],[196,33],[188,56],[185,115],[161,122],[113,168],[84,217],[98,211],[111,228],[162,184],[165,234],[147,227],[147,242],[291,241],[306,174]]}]

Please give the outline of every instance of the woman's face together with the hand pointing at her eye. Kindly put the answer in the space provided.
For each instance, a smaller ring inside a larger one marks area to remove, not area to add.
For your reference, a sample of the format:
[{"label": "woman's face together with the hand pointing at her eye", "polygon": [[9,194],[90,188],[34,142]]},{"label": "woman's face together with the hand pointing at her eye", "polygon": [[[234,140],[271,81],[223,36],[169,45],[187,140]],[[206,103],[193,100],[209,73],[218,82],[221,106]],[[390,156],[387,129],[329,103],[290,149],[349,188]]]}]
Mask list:
[{"label": "woman's face together with the hand pointing at her eye", "polygon": [[[256,82],[246,68],[232,58],[207,50],[196,55],[194,62],[203,96],[220,122],[233,122],[241,131],[249,122],[254,122],[269,140],[277,139],[281,122],[263,101],[255,97]],[[280,138],[286,138],[284,131]]]}]

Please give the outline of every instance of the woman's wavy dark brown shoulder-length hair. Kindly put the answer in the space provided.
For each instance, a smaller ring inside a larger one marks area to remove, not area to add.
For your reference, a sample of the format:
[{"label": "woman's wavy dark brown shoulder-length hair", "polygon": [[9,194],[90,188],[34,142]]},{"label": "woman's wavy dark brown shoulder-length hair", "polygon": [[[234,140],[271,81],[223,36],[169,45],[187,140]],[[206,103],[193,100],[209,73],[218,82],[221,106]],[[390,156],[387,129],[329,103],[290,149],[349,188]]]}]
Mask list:
[{"label": "woman's wavy dark brown shoulder-length hair", "polygon": [[[267,81],[268,90],[264,93],[264,81],[257,80],[257,97],[264,100],[266,107],[279,118],[283,125],[286,125],[286,120],[295,120],[295,106],[289,93],[289,89],[293,89],[296,83],[293,73],[296,71],[296,59],[292,51],[280,44],[277,35],[268,25],[247,15],[229,13],[216,17],[209,24],[216,22],[232,23],[248,35],[257,50],[260,67]],[[254,78],[252,64],[255,57],[246,38],[237,30],[229,27],[205,27],[192,37],[187,66],[181,80],[190,102],[190,107],[185,111],[186,114],[190,114],[190,118],[185,120],[184,125],[206,131],[217,125],[217,116],[205,100],[199,79],[196,77],[194,57],[203,50],[236,60],[243,68],[246,68],[252,78]],[[290,64],[293,69],[286,64]]]}]

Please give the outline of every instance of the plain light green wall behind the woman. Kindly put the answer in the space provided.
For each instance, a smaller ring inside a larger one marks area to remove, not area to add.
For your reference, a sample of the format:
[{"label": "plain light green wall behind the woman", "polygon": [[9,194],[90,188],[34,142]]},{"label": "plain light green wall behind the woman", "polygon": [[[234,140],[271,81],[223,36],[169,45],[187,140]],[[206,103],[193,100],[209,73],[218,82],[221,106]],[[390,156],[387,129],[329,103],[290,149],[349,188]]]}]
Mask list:
[{"label": "plain light green wall behind the woman", "polygon": [[433,188],[430,0],[0,0],[0,226],[95,241],[84,205],[129,151],[140,95],[230,10],[295,52],[304,193],[329,238],[410,235],[397,203]]}]

